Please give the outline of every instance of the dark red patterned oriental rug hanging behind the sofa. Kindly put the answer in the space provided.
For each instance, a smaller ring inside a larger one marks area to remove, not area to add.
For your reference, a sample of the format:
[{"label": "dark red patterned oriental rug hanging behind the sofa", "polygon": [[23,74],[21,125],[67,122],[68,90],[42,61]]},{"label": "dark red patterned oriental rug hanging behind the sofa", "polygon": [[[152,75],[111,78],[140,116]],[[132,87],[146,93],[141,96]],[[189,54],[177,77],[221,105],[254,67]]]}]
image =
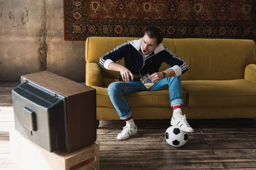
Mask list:
[{"label": "dark red patterned oriental rug hanging behind the sofa", "polygon": [[256,0],[64,0],[65,40],[142,37],[148,26],[166,38],[256,41]]}]

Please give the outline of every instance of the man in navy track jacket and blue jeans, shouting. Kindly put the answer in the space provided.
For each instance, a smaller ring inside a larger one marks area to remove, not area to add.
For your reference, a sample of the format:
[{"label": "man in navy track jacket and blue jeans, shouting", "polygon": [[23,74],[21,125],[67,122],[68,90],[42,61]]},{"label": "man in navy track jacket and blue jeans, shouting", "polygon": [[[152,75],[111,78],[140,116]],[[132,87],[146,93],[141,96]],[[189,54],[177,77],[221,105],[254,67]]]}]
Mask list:
[{"label": "man in navy track jacket and blue jeans, shouting", "polygon": [[[108,86],[108,94],[113,106],[120,118],[126,121],[126,126],[117,136],[119,140],[127,139],[137,133],[137,125],[132,119],[124,95],[138,91],[160,91],[168,86],[173,108],[171,125],[186,132],[194,131],[181,111],[183,100],[180,76],[188,70],[187,64],[161,44],[162,41],[161,31],[150,27],[145,30],[140,40],[127,41],[100,58],[100,65],[108,70],[119,71],[124,80],[124,82],[113,82]],[[122,58],[125,59],[125,67],[116,63]],[[166,62],[171,68],[158,72],[162,62]],[[155,82],[152,88],[145,88],[140,81],[131,81],[134,79],[133,74],[143,76],[147,73]]]}]

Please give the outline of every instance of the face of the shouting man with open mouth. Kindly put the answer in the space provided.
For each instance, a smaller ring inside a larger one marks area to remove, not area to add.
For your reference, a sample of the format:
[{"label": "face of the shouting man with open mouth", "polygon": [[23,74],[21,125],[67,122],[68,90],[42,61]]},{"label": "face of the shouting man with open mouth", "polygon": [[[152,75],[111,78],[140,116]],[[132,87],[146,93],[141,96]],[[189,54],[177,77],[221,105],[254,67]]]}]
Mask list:
[{"label": "face of the shouting man with open mouth", "polygon": [[154,51],[160,44],[157,45],[156,38],[149,38],[147,34],[144,35],[142,40],[142,53],[144,55],[148,55],[152,51]]}]

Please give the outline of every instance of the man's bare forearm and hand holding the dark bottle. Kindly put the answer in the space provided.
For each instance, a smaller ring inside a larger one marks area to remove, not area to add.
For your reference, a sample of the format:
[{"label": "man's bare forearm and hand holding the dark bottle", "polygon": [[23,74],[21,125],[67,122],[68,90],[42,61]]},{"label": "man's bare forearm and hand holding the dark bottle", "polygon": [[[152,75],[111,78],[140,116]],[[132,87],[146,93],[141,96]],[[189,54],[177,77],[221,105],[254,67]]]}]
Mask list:
[{"label": "man's bare forearm and hand holding the dark bottle", "polygon": [[122,75],[122,79],[125,82],[129,82],[130,81],[130,77],[131,76],[131,80],[134,80],[134,75],[131,73],[130,70],[128,70],[127,68],[125,68],[122,65],[119,65],[115,62],[111,62],[108,65],[108,69],[109,70],[113,70],[113,71],[120,71],[120,74]]}]

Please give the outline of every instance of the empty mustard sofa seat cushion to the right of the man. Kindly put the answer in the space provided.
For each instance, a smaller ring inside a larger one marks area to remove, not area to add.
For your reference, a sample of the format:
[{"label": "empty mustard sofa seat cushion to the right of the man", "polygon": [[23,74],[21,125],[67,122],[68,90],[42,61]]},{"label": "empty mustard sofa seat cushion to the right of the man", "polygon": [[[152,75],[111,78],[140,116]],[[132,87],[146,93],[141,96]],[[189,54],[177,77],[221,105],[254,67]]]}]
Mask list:
[{"label": "empty mustard sofa seat cushion to the right of the man", "polygon": [[256,106],[256,85],[245,79],[182,81],[190,107]]}]

